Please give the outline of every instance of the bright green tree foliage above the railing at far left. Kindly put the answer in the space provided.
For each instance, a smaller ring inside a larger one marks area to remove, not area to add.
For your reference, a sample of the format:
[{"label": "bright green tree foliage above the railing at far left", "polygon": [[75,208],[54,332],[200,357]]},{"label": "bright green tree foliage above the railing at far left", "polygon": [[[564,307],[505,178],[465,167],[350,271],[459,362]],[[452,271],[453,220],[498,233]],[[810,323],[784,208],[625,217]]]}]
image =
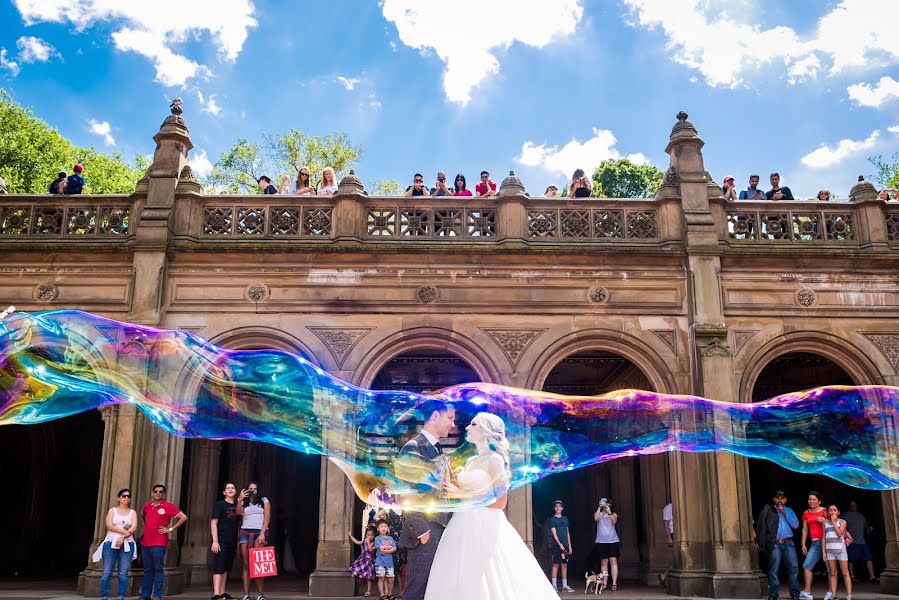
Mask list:
[{"label": "bright green tree foliage above the railing at far left", "polygon": [[71,174],[75,163],[84,165],[86,194],[130,194],[147,169],[141,155],[129,164],[120,152],[74,145],[0,89],[0,177],[10,194],[46,193],[57,173]]}]

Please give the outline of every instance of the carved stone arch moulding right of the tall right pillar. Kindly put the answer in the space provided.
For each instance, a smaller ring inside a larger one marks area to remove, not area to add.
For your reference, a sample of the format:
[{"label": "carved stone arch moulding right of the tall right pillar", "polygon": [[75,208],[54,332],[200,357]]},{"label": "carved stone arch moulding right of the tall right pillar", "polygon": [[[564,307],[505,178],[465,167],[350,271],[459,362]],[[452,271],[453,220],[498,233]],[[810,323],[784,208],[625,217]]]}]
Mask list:
[{"label": "carved stone arch moulding right of the tall right pillar", "polygon": [[778,356],[792,352],[809,352],[833,361],[855,385],[883,383],[877,366],[849,340],[819,331],[794,331],[769,340],[743,363],[740,402],[752,402],[752,389],[764,368]]}]

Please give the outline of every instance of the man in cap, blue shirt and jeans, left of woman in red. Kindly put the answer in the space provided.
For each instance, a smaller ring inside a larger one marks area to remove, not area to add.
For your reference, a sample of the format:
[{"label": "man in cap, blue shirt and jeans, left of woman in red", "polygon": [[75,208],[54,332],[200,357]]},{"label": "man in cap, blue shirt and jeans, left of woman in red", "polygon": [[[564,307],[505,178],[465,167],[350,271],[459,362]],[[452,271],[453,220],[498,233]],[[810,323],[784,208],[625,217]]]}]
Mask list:
[{"label": "man in cap, blue shirt and jeans, left of woman in red", "polygon": [[783,490],[774,492],[773,502],[762,509],[756,527],[759,551],[768,555],[768,600],[777,600],[780,595],[778,571],[781,563],[786,565],[789,573],[790,598],[799,598],[799,560],[793,544],[793,531],[799,527],[799,519],[793,509],[787,507],[787,495]]}]

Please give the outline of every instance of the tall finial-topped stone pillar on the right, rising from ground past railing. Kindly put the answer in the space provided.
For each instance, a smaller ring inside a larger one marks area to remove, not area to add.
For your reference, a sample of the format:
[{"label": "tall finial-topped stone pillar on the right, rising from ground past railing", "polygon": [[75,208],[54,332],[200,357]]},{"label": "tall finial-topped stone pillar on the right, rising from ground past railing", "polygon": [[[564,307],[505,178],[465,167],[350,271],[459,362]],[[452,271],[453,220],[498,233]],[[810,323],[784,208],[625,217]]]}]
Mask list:
[{"label": "tall finial-topped stone pillar on the right, rising from ground past railing", "polygon": [[[720,189],[705,171],[704,142],[696,128],[684,112],[677,119],[666,148],[671,157],[667,177],[680,186],[684,218],[696,364],[693,392],[737,402],[718,280],[719,232],[709,203]],[[723,453],[677,454],[673,463],[675,553],[669,592],[715,598],[759,596],[751,519],[734,519],[750,514],[745,459]]]}]

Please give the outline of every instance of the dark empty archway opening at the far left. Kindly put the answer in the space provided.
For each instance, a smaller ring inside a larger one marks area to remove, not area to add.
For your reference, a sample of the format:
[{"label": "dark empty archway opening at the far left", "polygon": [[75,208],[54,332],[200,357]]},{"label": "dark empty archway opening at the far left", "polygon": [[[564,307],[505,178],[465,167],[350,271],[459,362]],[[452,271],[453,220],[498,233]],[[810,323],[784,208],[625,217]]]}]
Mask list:
[{"label": "dark empty archway opening at the far left", "polygon": [[77,579],[94,537],[103,432],[97,410],[0,427],[0,577]]}]

